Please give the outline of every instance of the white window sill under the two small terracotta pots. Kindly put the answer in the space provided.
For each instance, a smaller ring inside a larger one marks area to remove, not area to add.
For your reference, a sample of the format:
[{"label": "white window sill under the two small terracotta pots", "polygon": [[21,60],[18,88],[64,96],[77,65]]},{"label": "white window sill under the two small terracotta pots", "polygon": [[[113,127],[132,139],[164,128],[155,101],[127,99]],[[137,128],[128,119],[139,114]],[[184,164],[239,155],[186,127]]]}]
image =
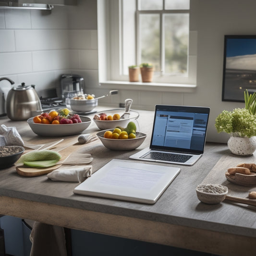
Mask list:
[{"label": "white window sill under the two small terracotta pots", "polygon": [[125,89],[125,90],[147,90],[147,91],[162,91],[162,92],[195,92],[196,85],[188,84],[165,84],[165,83],[142,83],[142,82],[127,82],[127,81],[104,81],[99,85],[108,89]]}]

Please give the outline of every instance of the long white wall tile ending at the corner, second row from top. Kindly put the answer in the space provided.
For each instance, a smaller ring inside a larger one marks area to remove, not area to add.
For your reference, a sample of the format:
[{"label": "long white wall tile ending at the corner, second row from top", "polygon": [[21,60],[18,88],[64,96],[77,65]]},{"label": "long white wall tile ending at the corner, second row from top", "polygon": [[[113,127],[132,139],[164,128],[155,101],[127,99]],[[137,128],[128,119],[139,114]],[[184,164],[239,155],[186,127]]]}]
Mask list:
[{"label": "long white wall tile ending at the corner, second row from top", "polygon": [[15,30],[16,49],[68,49],[67,30]]}]

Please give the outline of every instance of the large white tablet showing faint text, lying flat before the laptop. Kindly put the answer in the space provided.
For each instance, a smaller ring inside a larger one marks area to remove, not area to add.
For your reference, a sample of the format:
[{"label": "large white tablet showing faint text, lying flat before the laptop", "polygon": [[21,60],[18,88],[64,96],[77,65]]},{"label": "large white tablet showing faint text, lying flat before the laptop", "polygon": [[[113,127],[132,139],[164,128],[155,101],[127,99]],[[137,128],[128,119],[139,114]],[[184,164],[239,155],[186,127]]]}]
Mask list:
[{"label": "large white tablet showing faint text, lying flat before the laptop", "polygon": [[177,167],[112,159],[73,193],[154,204],[179,172]]}]

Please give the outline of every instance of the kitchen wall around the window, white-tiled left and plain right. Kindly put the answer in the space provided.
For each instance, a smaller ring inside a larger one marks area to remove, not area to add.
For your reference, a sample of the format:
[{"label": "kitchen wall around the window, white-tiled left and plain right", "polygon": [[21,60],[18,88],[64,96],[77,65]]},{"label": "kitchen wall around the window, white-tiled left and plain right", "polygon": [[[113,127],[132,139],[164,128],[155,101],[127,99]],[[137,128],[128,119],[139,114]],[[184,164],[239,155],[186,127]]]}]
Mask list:
[{"label": "kitchen wall around the window, white-tiled left and plain right", "polygon": [[[197,88],[195,93],[119,90],[100,102],[118,107],[125,98],[133,106],[154,109],[155,104],[182,104],[211,108],[207,141],[226,142],[214,122],[223,110],[243,108],[222,102],[224,35],[256,34],[256,1],[191,0],[192,30],[197,31]],[[78,0],[74,7],[41,11],[0,9],[0,77],[35,84],[37,90],[59,87],[61,73],[84,76],[85,91],[98,96],[109,89],[98,85],[97,1]],[[115,89],[115,88],[112,88]]]}]

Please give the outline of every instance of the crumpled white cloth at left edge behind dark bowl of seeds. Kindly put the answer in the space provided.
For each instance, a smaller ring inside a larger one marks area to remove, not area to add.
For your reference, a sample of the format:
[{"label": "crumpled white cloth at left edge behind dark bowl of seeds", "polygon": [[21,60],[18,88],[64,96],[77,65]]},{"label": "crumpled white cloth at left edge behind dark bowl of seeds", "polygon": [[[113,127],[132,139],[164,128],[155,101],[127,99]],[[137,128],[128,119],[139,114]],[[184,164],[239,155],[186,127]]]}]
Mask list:
[{"label": "crumpled white cloth at left edge behind dark bowl of seeds", "polygon": [[6,140],[6,146],[23,146],[24,141],[21,138],[21,135],[18,133],[16,127],[7,127],[2,124],[0,126],[0,134],[4,136]]}]

